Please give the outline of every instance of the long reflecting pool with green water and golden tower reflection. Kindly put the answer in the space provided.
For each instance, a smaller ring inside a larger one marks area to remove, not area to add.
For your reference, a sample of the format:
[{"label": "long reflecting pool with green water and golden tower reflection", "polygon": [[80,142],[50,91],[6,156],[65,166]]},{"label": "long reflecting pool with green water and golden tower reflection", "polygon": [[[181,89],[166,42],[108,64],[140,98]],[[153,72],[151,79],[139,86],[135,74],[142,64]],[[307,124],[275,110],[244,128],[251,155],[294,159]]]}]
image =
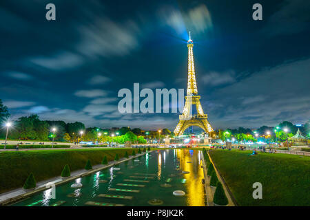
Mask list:
[{"label": "long reflecting pool with green water and golden tower reflection", "polygon": [[[54,195],[44,190],[12,206],[205,206],[200,165],[198,150],[152,151],[56,186]],[[185,196],[174,196],[174,190]]]}]

